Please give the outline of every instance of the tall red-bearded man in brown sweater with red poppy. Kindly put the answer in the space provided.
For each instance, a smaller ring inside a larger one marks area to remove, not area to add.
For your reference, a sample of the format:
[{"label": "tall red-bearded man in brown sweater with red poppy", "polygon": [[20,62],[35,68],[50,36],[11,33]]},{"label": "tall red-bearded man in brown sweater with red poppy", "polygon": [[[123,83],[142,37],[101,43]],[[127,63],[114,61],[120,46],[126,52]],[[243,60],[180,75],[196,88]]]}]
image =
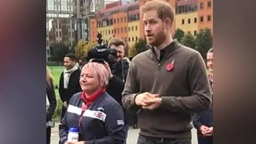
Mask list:
[{"label": "tall red-bearded man in brown sweater with red poppy", "polygon": [[211,106],[204,60],[172,39],[169,3],[150,1],[140,10],[149,50],[131,61],[122,94],[127,110],[139,110],[137,144],[190,144],[193,114]]}]

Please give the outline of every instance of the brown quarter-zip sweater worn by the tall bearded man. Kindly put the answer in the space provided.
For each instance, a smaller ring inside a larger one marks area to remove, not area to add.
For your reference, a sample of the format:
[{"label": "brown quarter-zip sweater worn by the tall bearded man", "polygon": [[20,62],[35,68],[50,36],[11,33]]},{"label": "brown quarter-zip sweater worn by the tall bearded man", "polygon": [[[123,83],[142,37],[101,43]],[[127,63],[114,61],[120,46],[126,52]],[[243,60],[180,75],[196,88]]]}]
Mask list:
[{"label": "brown quarter-zip sweater worn by the tall bearded man", "polygon": [[[211,106],[209,79],[199,52],[173,42],[159,61],[154,50],[133,58],[127,75],[122,102],[127,110],[138,108],[141,135],[156,138],[191,138],[193,113]],[[172,70],[168,64],[174,60]],[[135,105],[135,95],[159,94],[162,104],[155,110]]]}]

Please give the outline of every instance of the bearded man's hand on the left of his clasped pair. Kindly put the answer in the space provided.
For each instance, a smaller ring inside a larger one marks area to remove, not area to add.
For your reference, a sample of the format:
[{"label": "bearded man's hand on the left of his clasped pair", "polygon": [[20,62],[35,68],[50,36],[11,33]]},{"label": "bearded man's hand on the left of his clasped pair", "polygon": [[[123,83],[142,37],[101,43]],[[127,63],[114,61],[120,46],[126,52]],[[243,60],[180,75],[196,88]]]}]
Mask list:
[{"label": "bearded man's hand on the left of his clasped pair", "polygon": [[148,92],[140,93],[136,96],[135,103],[138,106],[149,106],[150,104],[145,103],[145,101],[156,97],[158,97],[158,94],[151,94]]}]

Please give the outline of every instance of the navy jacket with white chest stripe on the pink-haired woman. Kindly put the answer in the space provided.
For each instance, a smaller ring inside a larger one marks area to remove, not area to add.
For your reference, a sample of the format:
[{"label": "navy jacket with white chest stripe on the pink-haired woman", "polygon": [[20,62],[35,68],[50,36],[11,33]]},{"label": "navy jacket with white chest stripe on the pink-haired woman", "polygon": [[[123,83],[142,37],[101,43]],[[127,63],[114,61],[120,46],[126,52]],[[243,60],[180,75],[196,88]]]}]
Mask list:
[{"label": "navy jacket with white chest stripe on the pink-haired woman", "polygon": [[[67,112],[59,126],[60,143],[67,141],[68,130],[78,126],[82,115],[82,92],[70,99]],[[119,144],[125,141],[123,131],[123,108],[107,93],[103,92],[85,110],[79,127],[79,140],[86,144]]]}]

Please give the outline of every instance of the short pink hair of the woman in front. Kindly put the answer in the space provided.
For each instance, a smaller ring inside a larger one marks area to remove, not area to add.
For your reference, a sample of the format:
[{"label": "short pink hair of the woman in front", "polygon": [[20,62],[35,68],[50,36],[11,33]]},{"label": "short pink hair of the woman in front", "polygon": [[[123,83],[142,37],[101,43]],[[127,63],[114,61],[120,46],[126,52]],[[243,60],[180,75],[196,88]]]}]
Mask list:
[{"label": "short pink hair of the woman in front", "polygon": [[85,68],[86,70],[90,71],[93,75],[98,76],[100,81],[100,87],[108,85],[109,72],[104,65],[97,62],[88,62],[86,65],[84,65],[82,71]]}]

